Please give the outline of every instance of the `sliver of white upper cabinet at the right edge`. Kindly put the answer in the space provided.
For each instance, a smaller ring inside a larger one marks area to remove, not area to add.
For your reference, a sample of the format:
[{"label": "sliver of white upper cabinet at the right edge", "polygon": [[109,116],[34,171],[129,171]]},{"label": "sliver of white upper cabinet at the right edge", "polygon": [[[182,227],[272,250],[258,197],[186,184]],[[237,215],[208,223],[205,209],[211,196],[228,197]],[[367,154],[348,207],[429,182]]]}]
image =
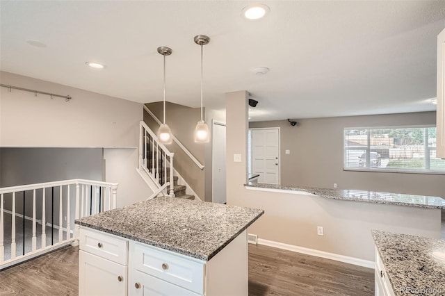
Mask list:
[{"label": "sliver of white upper cabinet at the right edge", "polygon": [[445,29],[437,36],[437,148],[445,158]]}]

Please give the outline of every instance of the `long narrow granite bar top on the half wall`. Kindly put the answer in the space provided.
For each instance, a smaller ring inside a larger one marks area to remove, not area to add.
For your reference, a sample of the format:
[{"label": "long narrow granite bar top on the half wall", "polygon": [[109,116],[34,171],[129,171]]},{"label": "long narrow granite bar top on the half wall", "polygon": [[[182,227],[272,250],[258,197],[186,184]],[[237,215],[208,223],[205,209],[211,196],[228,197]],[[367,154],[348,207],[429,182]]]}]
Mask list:
[{"label": "long narrow granite bar top on the half wall", "polygon": [[442,197],[429,197],[424,195],[405,195],[400,193],[375,192],[364,190],[343,190],[328,188],[311,188],[298,186],[284,186],[264,183],[247,183],[245,186],[256,188],[268,188],[275,190],[302,191],[325,197],[328,199],[341,199],[353,202],[371,202],[373,204],[395,204],[398,206],[417,206],[419,208],[443,208],[445,199]]}]

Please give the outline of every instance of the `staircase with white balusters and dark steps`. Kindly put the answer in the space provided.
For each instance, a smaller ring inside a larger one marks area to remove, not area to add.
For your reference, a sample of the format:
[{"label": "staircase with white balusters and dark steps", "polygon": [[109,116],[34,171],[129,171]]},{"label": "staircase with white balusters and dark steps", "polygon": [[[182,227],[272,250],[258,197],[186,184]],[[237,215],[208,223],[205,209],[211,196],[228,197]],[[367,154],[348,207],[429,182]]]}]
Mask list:
[{"label": "staircase with white balusters and dark steps", "polygon": [[195,199],[195,195],[187,194],[186,185],[178,183],[182,178],[170,175],[171,172],[175,174],[173,156],[174,154],[168,151],[167,147],[158,142],[156,135],[147,124],[140,122],[138,172],[154,192],[149,199],[161,195]]}]

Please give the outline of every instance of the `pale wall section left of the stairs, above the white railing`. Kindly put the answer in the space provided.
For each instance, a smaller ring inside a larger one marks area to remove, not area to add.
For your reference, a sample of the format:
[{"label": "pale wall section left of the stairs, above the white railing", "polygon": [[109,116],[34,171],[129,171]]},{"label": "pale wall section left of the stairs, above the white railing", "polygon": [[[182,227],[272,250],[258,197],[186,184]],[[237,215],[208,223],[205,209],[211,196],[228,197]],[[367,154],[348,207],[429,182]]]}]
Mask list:
[{"label": "pale wall section left of the stairs, above the white railing", "polygon": [[106,148],[104,160],[106,181],[119,183],[118,208],[140,202],[152,195],[152,190],[136,172],[138,149]]}]

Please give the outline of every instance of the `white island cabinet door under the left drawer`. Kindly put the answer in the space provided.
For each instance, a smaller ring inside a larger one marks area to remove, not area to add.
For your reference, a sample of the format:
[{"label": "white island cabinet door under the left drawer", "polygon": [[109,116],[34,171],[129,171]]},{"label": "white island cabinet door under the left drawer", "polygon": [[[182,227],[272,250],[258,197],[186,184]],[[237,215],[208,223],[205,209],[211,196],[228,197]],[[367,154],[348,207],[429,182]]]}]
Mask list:
[{"label": "white island cabinet door under the left drawer", "polygon": [[127,295],[127,266],[80,250],[79,295]]}]

